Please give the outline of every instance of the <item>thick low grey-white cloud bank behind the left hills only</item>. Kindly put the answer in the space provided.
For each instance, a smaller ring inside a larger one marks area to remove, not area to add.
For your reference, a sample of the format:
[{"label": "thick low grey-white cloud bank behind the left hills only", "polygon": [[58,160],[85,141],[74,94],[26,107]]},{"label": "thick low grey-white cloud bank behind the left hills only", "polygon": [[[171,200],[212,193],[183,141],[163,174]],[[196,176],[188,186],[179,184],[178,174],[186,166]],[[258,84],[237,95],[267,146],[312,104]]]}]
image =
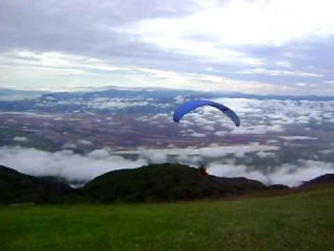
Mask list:
[{"label": "thick low grey-white cloud bank behind the left hills only", "polygon": [[92,178],[116,169],[136,168],[147,165],[145,160],[126,160],[109,156],[106,150],[95,150],[88,155],[72,151],[49,153],[19,146],[0,148],[1,165],[33,176],[59,176],[67,181],[88,182]]}]

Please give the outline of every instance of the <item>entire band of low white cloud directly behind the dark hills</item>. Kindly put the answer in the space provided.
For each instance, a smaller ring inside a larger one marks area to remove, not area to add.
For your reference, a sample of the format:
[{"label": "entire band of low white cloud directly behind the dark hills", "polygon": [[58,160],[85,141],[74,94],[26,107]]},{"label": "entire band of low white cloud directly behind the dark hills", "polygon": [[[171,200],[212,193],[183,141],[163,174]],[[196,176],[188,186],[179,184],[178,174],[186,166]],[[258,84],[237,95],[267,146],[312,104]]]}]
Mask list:
[{"label": "entire band of low white cloud directly behind the dark hills", "polygon": [[[206,149],[209,151],[208,149]],[[96,176],[116,169],[132,169],[149,163],[179,162],[191,167],[205,163],[209,174],[225,177],[246,177],[261,181],[267,185],[284,184],[289,186],[301,185],[322,174],[334,173],[334,163],[317,160],[298,160],[296,163],[283,163],[270,171],[236,164],[233,159],[219,162],[205,161],[205,155],[189,155],[182,153],[170,159],[164,151],[145,151],[136,159],[127,159],[120,155],[110,155],[107,149],[97,149],[86,155],[63,150],[55,153],[27,149],[21,146],[3,146],[0,148],[0,165],[16,169],[24,174],[33,176],[58,176],[69,183],[86,183]],[[212,155],[217,153],[213,151]],[[237,154],[234,154],[237,157]],[[274,158],[274,153],[259,151],[260,158]],[[242,156],[239,156],[242,157]]]}]

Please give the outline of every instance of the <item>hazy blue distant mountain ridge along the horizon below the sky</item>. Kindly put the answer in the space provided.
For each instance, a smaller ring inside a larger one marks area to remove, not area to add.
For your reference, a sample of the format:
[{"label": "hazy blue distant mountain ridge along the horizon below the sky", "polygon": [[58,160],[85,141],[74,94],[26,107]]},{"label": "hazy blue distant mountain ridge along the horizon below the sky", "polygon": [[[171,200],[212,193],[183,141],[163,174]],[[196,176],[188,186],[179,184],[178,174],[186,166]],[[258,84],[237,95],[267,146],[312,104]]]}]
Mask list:
[{"label": "hazy blue distant mountain ridge along the horizon below the sky", "polygon": [[[94,98],[153,98],[152,102],[168,103],[175,102],[177,96],[188,99],[215,99],[215,98],[248,98],[255,100],[313,100],[325,101],[334,100],[333,96],[284,96],[284,95],[259,95],[238,92],[205,92],[177,89],[124,89],[113,86],[111,89],[100,91],[64,91],[64,92],[43,92],[43,91],[21,91],[11,89],[0,89],[0,110],[25,111],[37,109],[44,112],[73,111],[84,109],[78,104],[78,100],[88,101]],[[2,100],[1,100],[2,97]],[[10,98],[12,97],[12,98]],[[26,98],[25,98],[26,97]],[[60,102],[60,103],[59,103]],[[44,105],[43,105],[44,104]],[[86,109],[86,108],[85,108]]]}]

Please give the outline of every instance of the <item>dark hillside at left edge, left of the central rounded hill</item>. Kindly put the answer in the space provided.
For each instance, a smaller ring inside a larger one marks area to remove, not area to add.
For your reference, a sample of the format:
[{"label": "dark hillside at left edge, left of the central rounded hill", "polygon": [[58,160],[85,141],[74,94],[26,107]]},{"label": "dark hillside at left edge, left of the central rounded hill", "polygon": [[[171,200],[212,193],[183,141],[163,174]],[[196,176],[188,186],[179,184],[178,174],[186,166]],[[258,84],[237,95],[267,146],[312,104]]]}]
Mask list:
[{"label": "dark hillside at left edge, left of the central rounded hill", "polygon": [[70,190],[54,178],[36,178],[0,165],[0,204],[56,202]]}]

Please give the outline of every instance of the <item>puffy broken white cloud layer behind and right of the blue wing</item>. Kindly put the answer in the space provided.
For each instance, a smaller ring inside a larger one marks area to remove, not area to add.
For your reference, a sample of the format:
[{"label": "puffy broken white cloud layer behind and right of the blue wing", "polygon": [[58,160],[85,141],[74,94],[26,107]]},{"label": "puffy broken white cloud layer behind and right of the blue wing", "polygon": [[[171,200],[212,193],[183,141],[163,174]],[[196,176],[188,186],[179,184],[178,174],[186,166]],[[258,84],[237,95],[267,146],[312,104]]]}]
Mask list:
[{"label": "puffy broken white cloud layer behind and right of the blue wing", "polygon": [[[278,135],[284,140],[316,140],[307,126],[334,122],[334,101],[255,100],[246,98],[218,98],[215,100],[237,113],[241,126],[213,107],[202,107],[186,114],[180,121],[183,135]],[[167,120],[164,121],[167,123]],[[287,128],[301,128],[304,135],[285,135]],[[214,130],[212,130],[214,129]],[[305,130],[304,130],[305,129]],[[278,143],[278,142],[276,142]]]}]

